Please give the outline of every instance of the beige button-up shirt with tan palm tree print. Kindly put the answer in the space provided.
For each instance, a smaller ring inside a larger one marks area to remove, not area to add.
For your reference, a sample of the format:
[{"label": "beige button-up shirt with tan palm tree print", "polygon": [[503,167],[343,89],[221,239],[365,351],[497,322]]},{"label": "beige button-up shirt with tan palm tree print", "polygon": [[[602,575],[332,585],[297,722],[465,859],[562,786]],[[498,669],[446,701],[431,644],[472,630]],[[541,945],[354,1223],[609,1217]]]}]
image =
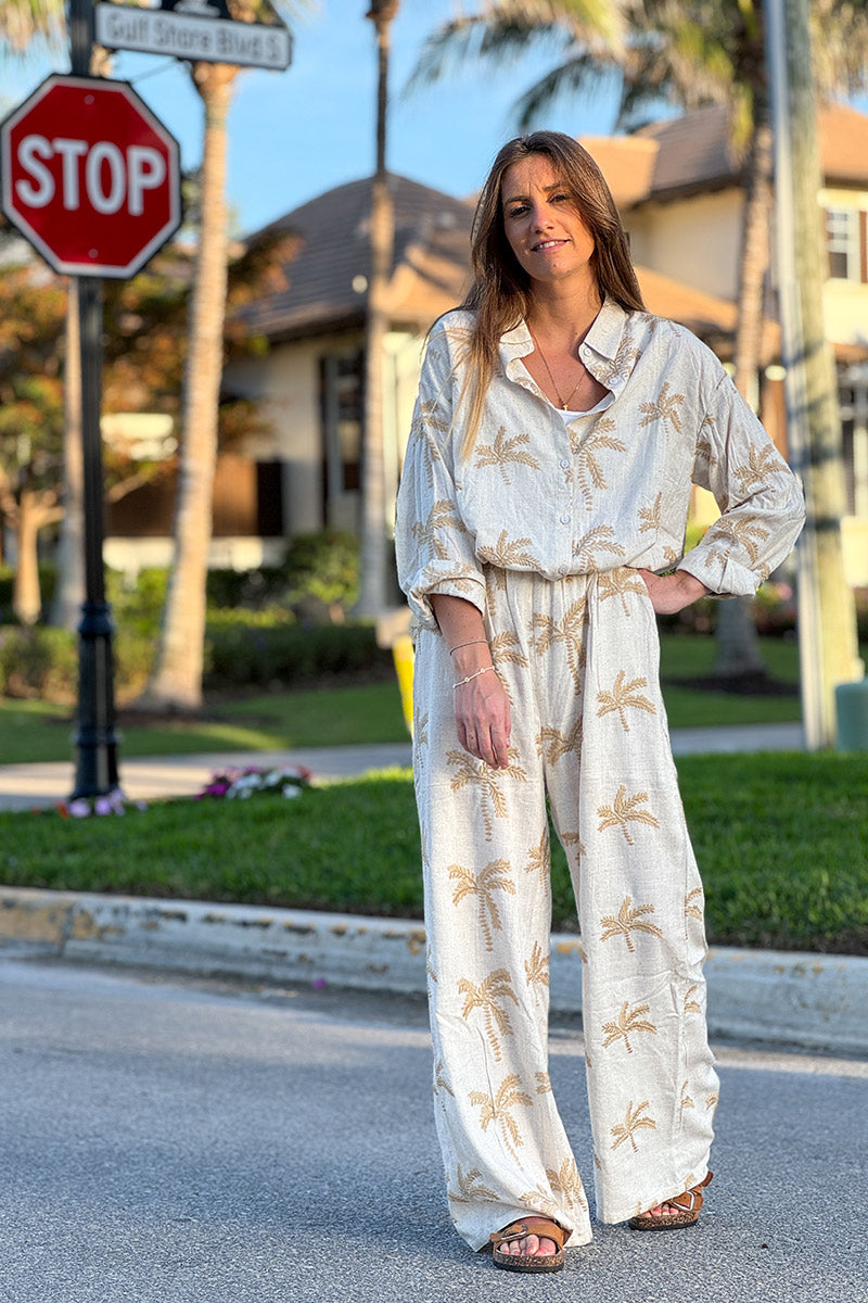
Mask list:
[{"label": "beige button-up shirt with tan palm tree print", "polygon": [[[610,392],[565,420],[522,362],[534,343],[519,323],[500,341],[502,369],[463,459],[471,327],[453,311],[432,332],[398,495],[398,569],[423,625],[437,628],[432,593],[484,612],[485,563],[550,580],[677,566],[713,593],[748,595],[787,555],[804,519],[798,481],[688,330],[606,298],[580,357]],[[685,558],[691,482],[721,516]]]}]

